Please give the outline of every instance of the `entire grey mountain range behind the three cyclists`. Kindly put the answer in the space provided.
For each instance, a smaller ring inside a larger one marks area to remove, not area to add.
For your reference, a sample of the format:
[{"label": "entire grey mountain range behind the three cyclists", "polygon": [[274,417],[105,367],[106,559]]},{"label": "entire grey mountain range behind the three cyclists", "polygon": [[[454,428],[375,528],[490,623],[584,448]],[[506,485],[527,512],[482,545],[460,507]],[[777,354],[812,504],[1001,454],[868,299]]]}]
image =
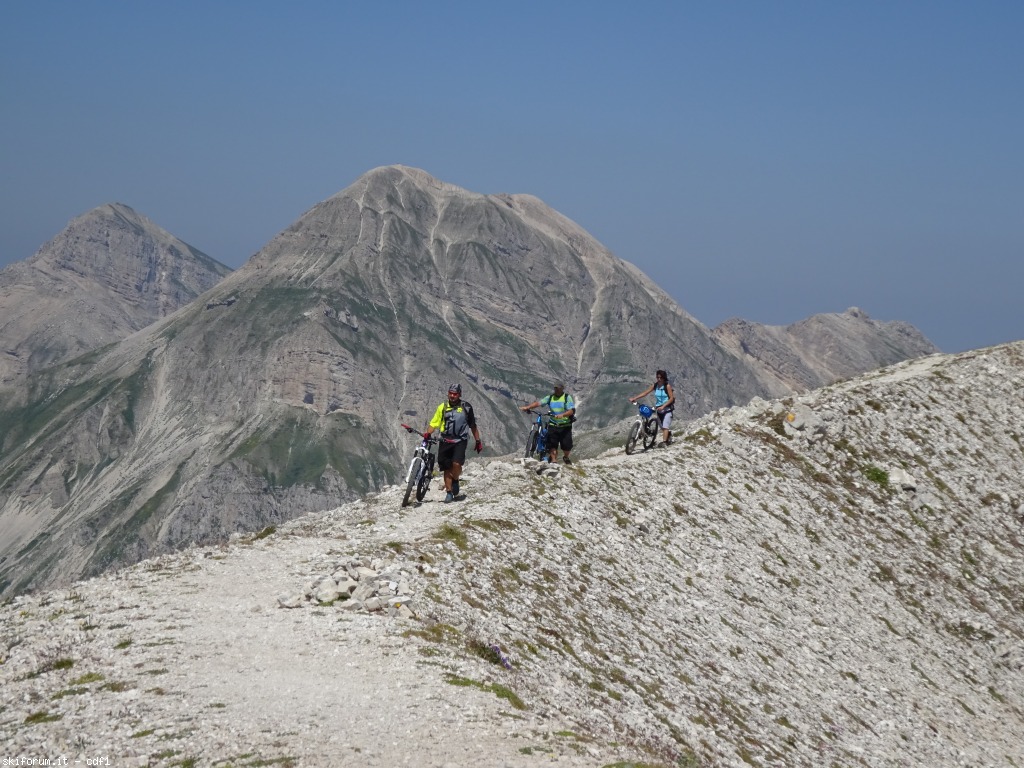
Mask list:
[{"label": "entire grey mountain range behind the three cyclists", "polygon": [[537,198],[398,166],[227,272],[124,206],[0,271],[5,594],[392,482],[453,381],[504,454],[556,377],[584,432],[656,368],[686,419],[937,351],[856,309],[709,330]]}]

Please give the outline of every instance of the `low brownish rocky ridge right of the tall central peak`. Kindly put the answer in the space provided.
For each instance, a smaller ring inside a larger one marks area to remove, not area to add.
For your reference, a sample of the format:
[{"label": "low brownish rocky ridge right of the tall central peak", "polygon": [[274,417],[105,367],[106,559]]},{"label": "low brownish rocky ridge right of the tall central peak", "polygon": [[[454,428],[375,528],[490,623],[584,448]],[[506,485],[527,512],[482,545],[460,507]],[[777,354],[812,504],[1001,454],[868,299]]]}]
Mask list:
[{"label": "low brownish rocky ridge right of the tall central peak", "polygon": [[724,348],[746,360],[776,397],[939,351],[908,323],[882,323],[857,307],[790,326],[734,317],[712,333]]}]

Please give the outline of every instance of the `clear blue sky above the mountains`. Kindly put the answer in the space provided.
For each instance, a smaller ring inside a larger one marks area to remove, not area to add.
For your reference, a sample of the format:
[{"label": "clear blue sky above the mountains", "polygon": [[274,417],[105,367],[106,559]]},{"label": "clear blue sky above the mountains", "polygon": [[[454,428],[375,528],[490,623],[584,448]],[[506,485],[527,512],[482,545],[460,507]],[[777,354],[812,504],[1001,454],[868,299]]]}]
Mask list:
[{"label": "clear blue sky above the mountains", "polygon": [[528,193],[708,326],[1024,338],[1024,3],[0,7],[0,265],[109,202],[239,266],[380,165]]}]

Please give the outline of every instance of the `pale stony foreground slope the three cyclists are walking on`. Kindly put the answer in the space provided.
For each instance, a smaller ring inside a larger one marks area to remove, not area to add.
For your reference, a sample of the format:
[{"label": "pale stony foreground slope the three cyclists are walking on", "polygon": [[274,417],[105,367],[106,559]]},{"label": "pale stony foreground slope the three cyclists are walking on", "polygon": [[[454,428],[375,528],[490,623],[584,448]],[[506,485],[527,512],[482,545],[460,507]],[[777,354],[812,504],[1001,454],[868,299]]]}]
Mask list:
[{"label": "pale stony foreground slope the three cyclists are walking on", "polygon": [[[10,750],[311,766],[1024,763],[1024,342],[469,465],[0,608]],[[285,607],[294,606],[294,607]]]}]

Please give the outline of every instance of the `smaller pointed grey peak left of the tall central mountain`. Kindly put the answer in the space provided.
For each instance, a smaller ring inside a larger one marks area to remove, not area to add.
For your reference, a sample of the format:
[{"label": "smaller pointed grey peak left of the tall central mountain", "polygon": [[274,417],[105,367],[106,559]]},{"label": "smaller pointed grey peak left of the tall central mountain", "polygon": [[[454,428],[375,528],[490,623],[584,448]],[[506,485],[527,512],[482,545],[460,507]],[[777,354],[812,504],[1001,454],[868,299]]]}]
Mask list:
[{"label": "smaller pointed grey peak left of the tall central mountain", "polygon": [[71,221],[0,270],[0,387],[120,341],[230,269],[119,203]]}]

